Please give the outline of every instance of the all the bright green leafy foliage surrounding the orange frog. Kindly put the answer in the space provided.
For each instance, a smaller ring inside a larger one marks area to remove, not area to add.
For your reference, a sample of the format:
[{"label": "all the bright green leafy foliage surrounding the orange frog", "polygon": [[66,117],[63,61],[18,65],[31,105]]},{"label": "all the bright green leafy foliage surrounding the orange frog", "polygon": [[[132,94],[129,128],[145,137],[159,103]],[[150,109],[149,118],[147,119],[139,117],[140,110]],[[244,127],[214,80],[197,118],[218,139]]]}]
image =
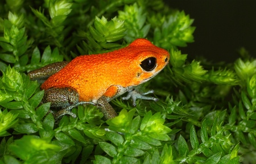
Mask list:
[{"label": "all the bright green leafy foliage surrounding the orange frog", "polygon": [[[179,47],[193,42],[192,23],[162,0],[0,2],[0,163],[253,163],[256,59],[242,48],[234,63],[189,61]],[[171,54],[138,87],[159,101],[117,98],[110,120],[87,105],[55,122],[24,73],[141,37]]]}]

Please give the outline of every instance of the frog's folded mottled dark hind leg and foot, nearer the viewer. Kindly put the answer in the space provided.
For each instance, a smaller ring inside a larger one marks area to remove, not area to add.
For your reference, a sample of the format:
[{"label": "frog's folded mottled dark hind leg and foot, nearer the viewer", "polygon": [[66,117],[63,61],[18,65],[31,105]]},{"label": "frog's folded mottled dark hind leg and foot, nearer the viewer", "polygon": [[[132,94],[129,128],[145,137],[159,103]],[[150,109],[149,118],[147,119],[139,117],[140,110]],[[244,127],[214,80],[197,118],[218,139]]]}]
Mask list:
[{"label": "frog's folded mottled dark hind leg and foot, nearer the viewer", "polygon": [[79,93],[72,87],[52,87],[44,91],[43,103],[51,102],[51,108],[60,109],[58,111],[50,110],[55,120],[60,119],[64,115],[71,115],[76,117],[71,110],[82,104],[92,104],[93,102],[79,102]]}]

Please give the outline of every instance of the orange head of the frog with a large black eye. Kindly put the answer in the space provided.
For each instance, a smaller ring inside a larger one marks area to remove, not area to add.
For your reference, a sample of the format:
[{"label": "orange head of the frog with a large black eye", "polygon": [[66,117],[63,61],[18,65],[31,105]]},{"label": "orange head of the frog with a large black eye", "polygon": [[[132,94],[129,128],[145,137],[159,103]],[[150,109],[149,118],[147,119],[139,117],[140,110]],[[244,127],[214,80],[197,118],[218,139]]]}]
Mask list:
[{"label": "orange head of the frog with a large black eye", "polygon": [[129,45],[137,53],[134,54],[134,62],[130,68],[135,70],[134,82],[144,83],[157,75],[169,63],[168,51],[158,48],[145,39],[138,39]]}]

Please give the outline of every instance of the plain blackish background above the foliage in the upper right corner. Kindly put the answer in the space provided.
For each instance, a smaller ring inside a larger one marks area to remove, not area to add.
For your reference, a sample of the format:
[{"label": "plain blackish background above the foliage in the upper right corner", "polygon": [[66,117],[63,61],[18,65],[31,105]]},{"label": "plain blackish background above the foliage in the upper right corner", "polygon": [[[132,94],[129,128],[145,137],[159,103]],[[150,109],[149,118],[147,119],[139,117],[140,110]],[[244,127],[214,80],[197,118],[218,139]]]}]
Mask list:
[{"label": "plain blackish background above the foliage in the upper right corner", "polygon": [[179,48],[189,58],[234,62],[242,46],[256,57],[256,1],[166,0],[171,8],[195,19],[195,42]]}]

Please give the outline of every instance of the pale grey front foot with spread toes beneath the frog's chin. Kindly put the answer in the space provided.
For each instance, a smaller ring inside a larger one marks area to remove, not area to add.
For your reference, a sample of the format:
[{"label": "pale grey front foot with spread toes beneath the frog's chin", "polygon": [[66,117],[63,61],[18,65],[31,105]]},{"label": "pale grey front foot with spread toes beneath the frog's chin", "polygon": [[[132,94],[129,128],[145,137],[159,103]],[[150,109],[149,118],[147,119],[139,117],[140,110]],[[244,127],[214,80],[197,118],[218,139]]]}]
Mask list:
[{"label": "pale grey front foot with spread toes beneath the frog's chin", "polygon": [[133,106],[136,106],[136,99],[137,98],[141,98],[143,100],[158,101],[158,98],[145,96],[145,95],[147,95],[149,93],[154,93],[154,90],[149,90],[148,92],[140,93],[137,90],[133,89],[133,90],[128,92],[126,97],[122,97],[122,100],[128,100],[129,98],[131,98],[131,100],[133,101]]}]

